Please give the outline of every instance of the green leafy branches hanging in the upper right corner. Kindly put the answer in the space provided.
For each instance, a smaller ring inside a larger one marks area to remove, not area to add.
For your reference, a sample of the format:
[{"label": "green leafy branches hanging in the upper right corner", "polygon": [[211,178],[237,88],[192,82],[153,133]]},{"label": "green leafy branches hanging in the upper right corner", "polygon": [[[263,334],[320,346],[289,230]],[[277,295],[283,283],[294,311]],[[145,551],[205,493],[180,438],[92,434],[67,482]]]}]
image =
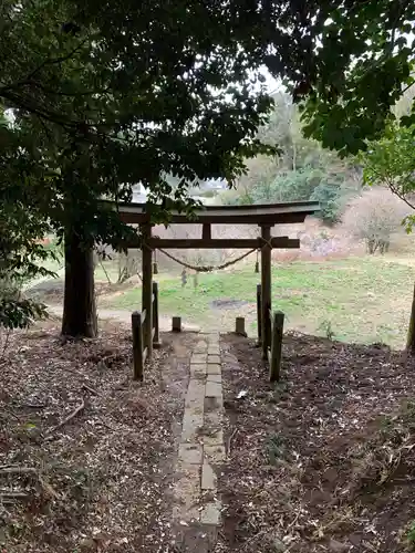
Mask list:
[{"label": "green leafy branches hanging in the upper right corner", "polygon": [[[415,3],[321,4],[314,24],[314,63],[299,91],[308,94],[302,115],[305,134],[343,155],[356,154],[365,149],[367,138],[382,136],[394,117],[391,108],[414,82]],[[403,123],[414,119],[415,114]]]}]

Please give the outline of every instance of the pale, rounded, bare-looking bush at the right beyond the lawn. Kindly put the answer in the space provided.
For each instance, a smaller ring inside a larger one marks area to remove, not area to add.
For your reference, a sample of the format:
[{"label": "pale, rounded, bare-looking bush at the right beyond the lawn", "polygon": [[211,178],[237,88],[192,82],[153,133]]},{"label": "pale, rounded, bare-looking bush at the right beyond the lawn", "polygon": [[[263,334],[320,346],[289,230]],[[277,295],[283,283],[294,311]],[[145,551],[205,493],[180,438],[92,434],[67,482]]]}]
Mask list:
[{"label": "pale, rounded, bare-looking bush at the right beyond the lawn", "polygon": [[363,240],[369,253],[390,249],[394,234],[403,232],[406,205],[387,188],[371,188],[351,200],[343,216],[343,227],[355,240]]}]

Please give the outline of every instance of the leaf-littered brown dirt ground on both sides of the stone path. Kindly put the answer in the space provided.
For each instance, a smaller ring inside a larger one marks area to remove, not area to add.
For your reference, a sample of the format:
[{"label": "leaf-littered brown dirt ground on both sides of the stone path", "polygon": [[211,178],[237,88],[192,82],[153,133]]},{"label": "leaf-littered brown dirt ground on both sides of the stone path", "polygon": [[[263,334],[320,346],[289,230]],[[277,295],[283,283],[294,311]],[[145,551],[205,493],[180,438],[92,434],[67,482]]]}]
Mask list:
[{"label": "leaf-littered brown dirt ground on both sides of the stone path", "polygon": [[[0,347],[1,553],[181,553],[173,482],[195,334],[163,341],[144,384],[120,323],[63,343],[51,321]],[[415,551],[415,361],[287,335],[270,385],[252,341],[221,347],[215,553]]]}]

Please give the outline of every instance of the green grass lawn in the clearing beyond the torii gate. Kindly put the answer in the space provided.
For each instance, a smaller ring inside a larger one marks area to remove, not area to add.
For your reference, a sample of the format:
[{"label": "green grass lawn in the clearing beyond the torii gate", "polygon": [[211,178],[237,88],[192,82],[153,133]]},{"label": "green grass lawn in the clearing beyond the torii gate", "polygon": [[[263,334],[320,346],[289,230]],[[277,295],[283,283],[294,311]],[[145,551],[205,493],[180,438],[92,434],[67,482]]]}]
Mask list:
[{"label": "green grass lawn in the clearing beyond the torii gate", "polygon": [[[411,309],[415,269],[381,258],[350,258],[324,262],[276,264],[272,269],[272,307],[286,313],[287,328],[346,342],[384,342],[402,347]],[[232,328],[235,316],[246,316],[256,332],[253,267],[240,271],[200,274],[195,290],[191,279],[159,279],[160,313],[181,315],[207,327]],[[215,300],[246,302],[238,309],[212,307]],[[137,309],[141,289],[134,288],[102,302],[105,309]]]}]

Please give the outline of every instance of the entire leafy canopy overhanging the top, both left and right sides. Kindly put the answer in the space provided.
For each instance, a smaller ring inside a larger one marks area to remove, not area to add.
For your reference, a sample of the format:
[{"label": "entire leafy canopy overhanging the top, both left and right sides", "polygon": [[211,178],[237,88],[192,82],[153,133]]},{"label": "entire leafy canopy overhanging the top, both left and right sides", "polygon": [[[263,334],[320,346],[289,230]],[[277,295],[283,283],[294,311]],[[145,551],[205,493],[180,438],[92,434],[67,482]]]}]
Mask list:
[{"label": "entire leafy canopy overhanging the top, both left and right sides", "polygon": [[160,221],[189,207],[189,184],[235,182],[247,158],[272,150],[257,137],[272,103],[257,84],[263,65],[308,98],[310,136],[361,148],[411,81],[403,33],[414,10],[401,0],[3,0],[0,105],[13,123],[0,126],[0,270],[35,271],[48,231],[120,244],[131,231],[101,199],[128,200],[138,181]]}]

